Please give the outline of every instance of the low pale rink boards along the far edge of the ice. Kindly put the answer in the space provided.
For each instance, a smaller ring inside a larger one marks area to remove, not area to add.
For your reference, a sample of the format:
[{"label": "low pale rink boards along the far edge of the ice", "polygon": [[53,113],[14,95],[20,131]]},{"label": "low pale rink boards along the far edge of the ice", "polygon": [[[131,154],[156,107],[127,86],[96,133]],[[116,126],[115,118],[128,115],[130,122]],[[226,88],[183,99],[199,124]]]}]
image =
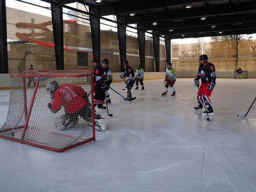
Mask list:
[{"label": "low pale rink boards along the far edge of the ice", "polygon": [[[246,72],[245,72],[246,73]],[[247,72],[248,78],[256,78],[256,72]],[[122,82],[120,75],[122,73],[112,73],[114,82]],[[195,78],[197,72],[176,72],[177,78]],[[234,78],[234,72],[217,72],[217,78]],[[243,73],[244,74],[244,73]],[[145,80],[150,79],[165,79],[165,72],[145,72]],[[0,90],[9,89],[10,78],[9,74],[0,74]]]}]

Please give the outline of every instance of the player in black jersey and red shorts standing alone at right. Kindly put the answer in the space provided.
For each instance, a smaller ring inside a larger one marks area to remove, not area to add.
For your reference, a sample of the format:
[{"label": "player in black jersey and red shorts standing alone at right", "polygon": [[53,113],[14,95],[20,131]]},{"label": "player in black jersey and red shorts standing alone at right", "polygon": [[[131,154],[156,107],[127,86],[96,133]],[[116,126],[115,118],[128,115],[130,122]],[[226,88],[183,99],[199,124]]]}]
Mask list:
[{"label": "player in black jersey and red shorts standing alone at right", "polygon": [[196,87],[199,87],[199,79],[201,79],[201,86],[197,92],[198,106],[194,107],[194,109],[202,109],[203,105],[205,105],[206,111],[203,111],[203,115],[207,115],[207,113],[208,115],[214,115],[209,97],[216,84],[216,73],[215,66],[208,62],[207,55],[199,57],[199,69],[194,79]]}]

